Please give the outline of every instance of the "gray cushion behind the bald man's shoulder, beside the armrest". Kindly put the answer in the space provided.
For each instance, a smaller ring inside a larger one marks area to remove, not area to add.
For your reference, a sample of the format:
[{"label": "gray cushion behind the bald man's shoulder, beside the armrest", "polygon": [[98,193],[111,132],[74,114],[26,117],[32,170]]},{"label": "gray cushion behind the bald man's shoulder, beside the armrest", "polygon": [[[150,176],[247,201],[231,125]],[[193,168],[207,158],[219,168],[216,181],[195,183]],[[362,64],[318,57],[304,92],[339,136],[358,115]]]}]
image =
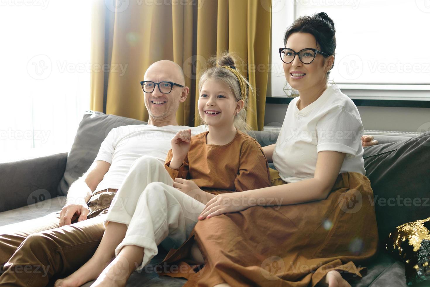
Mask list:
[{"label": "gray cushion behind the bald man's shoulder, beside the armrest", "polygon": [[99,111],[86,111],[68,154],[66,170],[58,184],[58,195],[67,195],[70,185],[88,170],[98,154],[101,142],[113,128],[146,123]]}]

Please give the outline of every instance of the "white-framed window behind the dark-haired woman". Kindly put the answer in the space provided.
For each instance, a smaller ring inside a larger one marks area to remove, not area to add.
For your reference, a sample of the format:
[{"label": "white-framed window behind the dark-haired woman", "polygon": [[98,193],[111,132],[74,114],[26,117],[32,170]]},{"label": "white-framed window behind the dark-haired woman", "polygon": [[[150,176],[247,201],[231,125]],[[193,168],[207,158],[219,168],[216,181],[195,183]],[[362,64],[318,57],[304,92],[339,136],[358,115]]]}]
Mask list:
[{"label": "white-framed window behind the dark-haired woman", "polygon": [[[330,80],[349,92],[348,96],[430,100],[430,1],[289,2],[273,0],[272,59],[279,58],[274,50],[283,45],[285,29],[294,19],[326,12],[335,22],[337,41]],[[285,84],[282,67],[273,78],[272,89],[284,94],[279,90]]]}]

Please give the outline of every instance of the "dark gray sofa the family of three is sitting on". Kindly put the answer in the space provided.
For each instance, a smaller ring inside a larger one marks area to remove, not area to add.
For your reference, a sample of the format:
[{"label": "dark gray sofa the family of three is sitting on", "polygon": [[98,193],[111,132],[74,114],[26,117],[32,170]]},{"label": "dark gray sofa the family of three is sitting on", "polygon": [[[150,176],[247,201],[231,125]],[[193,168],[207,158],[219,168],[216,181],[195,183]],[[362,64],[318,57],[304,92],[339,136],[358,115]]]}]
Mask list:
[{"label": "dark gray sofa the family of three is sitting on", "polygon": [[[21,225],[32,224],[32,219],[61,210],[68,187],[88,169],[107,133],[114,127],[130,124],[144,124],[144,122],[87,111],[80,123],[71,151],[0,164],[0,234],[6,229],[19,230]],[[407,191],[401,187],[404,180],[395,173],[390,173],[389,170],[396,164],[402,164],[402,166],[410,164],[410,160],[405,161],[396,152],[401,151],[402,147],[411,148],[412,146],[416,153],[421,153],[419,148],[423,146],[423,139],[413,133],[384,135],[384,133],[374,132],[373,134],[380,145],[365,148],[364,158],[367,175],[371,180],[375,196],[387,198],[395,197],[396,194],[405,194]],[[252,136],[255,136],[264,146],[275,143],[278,132],[252,132]],[[426,136],[424,140],[427,140],[424,142],[424,147],[428,148],[430,133],[424,136]],[[411,173],[416,175],[415,182],[422,181],[420,182],[421,187],[415,186],[414,179],[411,179],[407,170],[404,171],[407,174],[407,180],[411,180],[412,186],[415,188],[415,191],[412,192],[416,194],[412,194],[412,196],[429,197],[429,189],[422,188],[423,185],[430,186],[428,179],[424,179],[420,172],[418,174],[416,172],[421,169],[422,174],[428,173],[428,163],[427,159],[421,163],[421,166],[418,163],[418,165],[412,164],[412,167],[407,167],[411,169]],[[390,187],[387,182],[393,182],[394,189],[396,186],[400,186],[400,188],[393,191],[393,187]],[[407,183],[405,184],[408,186]],[[390,191],[386,191],[386,188]],[[391,193],[386,194],[386,192]],[[350,284],[353,287],[407,286],[403,263],[385,251],[385,239],[388,232],[397,225],[424,219],[426,212],[427,216],[430,216],[427,211],[430,209],[426,210],[423,207],[387,209],[386,205],[380,204],[378,201],[375,203],[381,248],[372,260],[358,262],[359,265],[368,267],[368,273],[361,280],[350,281]],[[159,254],[151,261],[151,266],[161,262],[165,255],[166,250],[160,247]],[[428,279],[430,280],[430,278]],[[184,282],[185,279],[160,277],[149,267],[140,273],[135,272],[127,286],[182,286]],[[430,281],[424,283],[418,286],[430,286]],[[90,283],[87,283],[84,286],[89,285]]]}]

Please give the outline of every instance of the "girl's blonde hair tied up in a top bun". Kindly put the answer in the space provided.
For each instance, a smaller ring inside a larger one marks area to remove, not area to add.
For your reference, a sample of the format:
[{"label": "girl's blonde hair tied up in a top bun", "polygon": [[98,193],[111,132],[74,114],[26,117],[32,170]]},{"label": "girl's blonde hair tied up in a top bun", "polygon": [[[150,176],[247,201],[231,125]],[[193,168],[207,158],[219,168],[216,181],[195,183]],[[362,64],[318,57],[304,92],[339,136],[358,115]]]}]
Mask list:
[{"label": "girl's blonde hair tied up in a top bun", "polygon": [[[202,90],[203,84],[207,80],[220,80],[227,84],[227,86],[230,88],[231,93],[233,93],[236,102],[239,102],[240,100],[243,100],[244,102],[243,108],[234,118],[234,127],[236,127],[237,130],[240,130],[242,132],[248,132],[249,130],[251,130],[251,127],[249,127],[249,125],[246,123],[246,111],[248,109],[249,93],[253,92],[254,89],[249,84],[249,81],[245,77],[240,75],[240,77],[242,77],[243,81],[246,84],[246,95],[242,96],[240,90],[240,83],[237,76],[226,68],[220,68],[222,66],[230,66],[230,68],[237,69],[236,61],[233,55],[231,55],[230,53],[226,52],[220,58],[212,57],[211,59],[209,59],[208,65],[212,66],[212,68],[208,68],[206,71],[203,72],[203,74],[201,74],[199,80],[199,93]],[[200,114],[198,120],[199,124],[206,124],[200,117]]]}]

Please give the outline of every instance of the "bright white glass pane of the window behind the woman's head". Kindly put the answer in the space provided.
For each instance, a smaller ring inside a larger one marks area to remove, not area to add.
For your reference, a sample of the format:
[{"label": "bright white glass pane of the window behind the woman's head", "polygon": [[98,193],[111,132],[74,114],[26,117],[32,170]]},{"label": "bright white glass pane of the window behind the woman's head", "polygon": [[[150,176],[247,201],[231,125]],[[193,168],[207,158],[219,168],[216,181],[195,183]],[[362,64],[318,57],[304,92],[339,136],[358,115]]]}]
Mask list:
[{"label": "bright white glass pane of the window behind the woman's head", "polygon": [[299,0],[335,22],[335,83],[430,84],[429,0]]}]

